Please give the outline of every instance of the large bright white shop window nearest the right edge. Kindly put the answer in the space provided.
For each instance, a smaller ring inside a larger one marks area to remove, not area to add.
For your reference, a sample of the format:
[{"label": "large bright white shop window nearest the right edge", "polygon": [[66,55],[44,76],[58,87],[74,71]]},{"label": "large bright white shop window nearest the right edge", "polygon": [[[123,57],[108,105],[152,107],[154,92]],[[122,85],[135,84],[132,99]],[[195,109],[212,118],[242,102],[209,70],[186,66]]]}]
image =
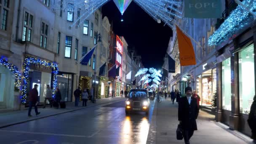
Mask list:
[{"label": "large bright white shop window nearest the right edge", "polygon": [[253,96],[254,85],[254,51],[253,44],[239,52],[239,88],[240,112],[249,114]]}]

